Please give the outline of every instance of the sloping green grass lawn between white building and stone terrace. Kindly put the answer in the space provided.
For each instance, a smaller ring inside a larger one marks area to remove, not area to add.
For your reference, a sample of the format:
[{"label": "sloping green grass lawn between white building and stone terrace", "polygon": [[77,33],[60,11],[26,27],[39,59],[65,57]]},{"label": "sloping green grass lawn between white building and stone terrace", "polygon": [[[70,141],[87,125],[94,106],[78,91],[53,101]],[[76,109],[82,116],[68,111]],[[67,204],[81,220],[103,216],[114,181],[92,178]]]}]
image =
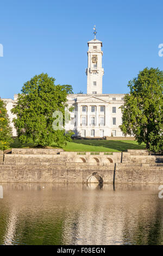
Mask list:
[{"label": "sloping green grass lawn between white building and stone terrace", "polygon": [[[31,148],[35,144],[21,144],[18,139],[11,143],[11,148]],[[53,144],[48,148],[58,148]],[[127,149],[145,149],[145,144],[138,145],[136,141],[105,141],[104,139],[74,139],[63,147],[65,151],[95,151],[95,152],[120,152]]]}]

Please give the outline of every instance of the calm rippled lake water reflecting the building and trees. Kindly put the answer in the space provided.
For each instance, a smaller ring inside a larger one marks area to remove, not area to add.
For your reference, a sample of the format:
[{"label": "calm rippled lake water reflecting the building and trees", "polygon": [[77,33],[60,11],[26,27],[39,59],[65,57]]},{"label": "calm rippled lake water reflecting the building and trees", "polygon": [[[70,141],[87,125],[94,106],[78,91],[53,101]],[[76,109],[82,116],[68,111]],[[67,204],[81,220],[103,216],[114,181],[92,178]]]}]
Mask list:
[{"label": "calm rippled lake water reflecting the building and trees", "polygon": [[159,185],[0,185],[1,245],[163,245]]}]

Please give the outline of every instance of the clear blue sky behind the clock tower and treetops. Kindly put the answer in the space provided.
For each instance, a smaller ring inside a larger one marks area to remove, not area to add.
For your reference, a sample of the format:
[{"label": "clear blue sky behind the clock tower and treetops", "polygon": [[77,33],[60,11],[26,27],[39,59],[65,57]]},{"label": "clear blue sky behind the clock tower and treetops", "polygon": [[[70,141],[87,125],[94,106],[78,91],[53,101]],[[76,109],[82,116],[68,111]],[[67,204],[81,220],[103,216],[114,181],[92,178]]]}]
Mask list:
[{"label": "clear blue sky behind the clock tower and treetops", "polygon": [[47,72],[56,84],[71,84],[86,93],[87,41],[103,41],[103,93],[126,93],[140,70],[163,70],[163,2],[1,1],[0,96],[12,98],[23,83]]}]

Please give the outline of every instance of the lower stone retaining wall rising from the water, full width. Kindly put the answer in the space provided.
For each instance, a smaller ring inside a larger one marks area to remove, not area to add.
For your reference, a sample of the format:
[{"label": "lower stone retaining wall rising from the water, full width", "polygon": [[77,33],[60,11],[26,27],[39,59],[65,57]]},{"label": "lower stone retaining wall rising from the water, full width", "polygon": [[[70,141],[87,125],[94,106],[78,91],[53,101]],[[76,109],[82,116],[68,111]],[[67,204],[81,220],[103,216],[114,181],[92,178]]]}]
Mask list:
[{"label": "lower stone retaining wall rising from the water, full width", "polygon": [[[163,164],[162,164],[163,166]],[[88,166],[85,163],[72,166],[52,165],[0,165],[0,182],[86,182],[93,173],[102,177],[104,183],[163,184],[162,166],[124,166],[105,164]]]}]

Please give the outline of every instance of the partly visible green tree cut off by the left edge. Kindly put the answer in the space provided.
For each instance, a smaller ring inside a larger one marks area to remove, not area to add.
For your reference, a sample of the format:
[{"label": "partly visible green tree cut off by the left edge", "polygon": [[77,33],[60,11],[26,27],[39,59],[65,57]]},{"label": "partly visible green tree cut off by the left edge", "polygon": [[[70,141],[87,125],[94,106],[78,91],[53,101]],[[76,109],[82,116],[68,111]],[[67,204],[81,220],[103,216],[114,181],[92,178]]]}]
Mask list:
[{"label": "partly visible green tree cut off by the left edge", "polygon": [[0,149],[10,147],[12,142],[12,129],[7,114],[6,104],[0,99]]}]

